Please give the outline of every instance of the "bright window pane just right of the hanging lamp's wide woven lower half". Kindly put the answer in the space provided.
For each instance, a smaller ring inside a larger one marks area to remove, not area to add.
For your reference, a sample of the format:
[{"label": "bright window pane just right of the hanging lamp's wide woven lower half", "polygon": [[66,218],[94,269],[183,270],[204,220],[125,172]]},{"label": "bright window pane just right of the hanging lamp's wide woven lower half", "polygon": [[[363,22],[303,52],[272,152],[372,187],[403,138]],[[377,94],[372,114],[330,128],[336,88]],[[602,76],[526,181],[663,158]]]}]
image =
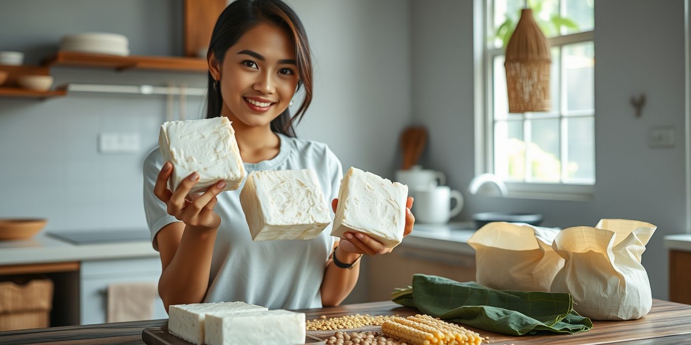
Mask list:
[{"label": "bright window pane just right of the hanging lamp's wide woven lower half", "polygon": [[568,110],[593,110],[595,48],[592,41],[564,46],[564,79]]}]

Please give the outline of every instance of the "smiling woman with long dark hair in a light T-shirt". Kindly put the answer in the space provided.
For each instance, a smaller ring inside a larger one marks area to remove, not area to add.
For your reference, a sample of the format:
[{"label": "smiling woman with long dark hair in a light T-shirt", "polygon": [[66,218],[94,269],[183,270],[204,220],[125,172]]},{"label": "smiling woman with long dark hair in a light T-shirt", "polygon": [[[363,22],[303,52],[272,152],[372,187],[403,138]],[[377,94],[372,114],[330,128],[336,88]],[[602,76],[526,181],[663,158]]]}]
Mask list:
[{"label": "smiling woman with long dark hair in a light T-shirt", "polygon": [[[293,10],[280,0],[231,3],[216,22],[207,60],[207,117],[232,121],[245,170],[312,168],[335,210],[341,162],[325,144],[294,135],[294,121],[312,101],[312,62]],[[291,116],[299,88],[305,98]],[[198,174],[171,193],[171,172],[158,149],[146,157],[144,208],[161,256],[158,290],[166,309],[237,300],[271,309],[336,306],[357,282],[361,255],[391,251],[361,233],[339,241],[330,228],[309,241],[252,242],[239,190],[219,194],[225,186],[219,181],[191,200]],[[405,235],[413,230],[412,204],[408,198]]]}]

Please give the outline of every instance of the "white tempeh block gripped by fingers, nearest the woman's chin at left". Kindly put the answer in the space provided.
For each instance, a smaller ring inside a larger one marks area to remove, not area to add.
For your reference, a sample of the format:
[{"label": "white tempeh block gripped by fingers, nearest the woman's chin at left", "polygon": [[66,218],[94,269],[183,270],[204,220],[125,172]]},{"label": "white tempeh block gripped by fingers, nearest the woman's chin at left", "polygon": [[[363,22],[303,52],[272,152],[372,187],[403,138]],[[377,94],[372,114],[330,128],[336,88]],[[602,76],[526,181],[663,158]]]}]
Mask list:
[{"label": "white tempeh block gripped by fingers, nearest the woman's chin at left", "polygon": [[220,180],[226,183],[223,190],[236,190],[247,176],[235,130],[227,117],[165,122],[158,146],[163,160],[173,164],[168,186],[171,191],[194,171],[199,181],[190,193],[205,192]]}]

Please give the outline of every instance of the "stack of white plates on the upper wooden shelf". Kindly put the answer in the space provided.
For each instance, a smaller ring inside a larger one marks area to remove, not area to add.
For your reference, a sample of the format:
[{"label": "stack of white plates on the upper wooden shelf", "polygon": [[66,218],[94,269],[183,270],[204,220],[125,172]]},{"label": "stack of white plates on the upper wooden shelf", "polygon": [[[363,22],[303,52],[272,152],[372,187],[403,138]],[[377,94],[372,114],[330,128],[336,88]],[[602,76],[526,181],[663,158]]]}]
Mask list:
[{"label": "stack of white plates on the upper wooden shelf", "polygon": [[87,32],[62,37],[60,50],[70,52],[93,52],[95,54],[129,55],[129,41],[122,34]]}]

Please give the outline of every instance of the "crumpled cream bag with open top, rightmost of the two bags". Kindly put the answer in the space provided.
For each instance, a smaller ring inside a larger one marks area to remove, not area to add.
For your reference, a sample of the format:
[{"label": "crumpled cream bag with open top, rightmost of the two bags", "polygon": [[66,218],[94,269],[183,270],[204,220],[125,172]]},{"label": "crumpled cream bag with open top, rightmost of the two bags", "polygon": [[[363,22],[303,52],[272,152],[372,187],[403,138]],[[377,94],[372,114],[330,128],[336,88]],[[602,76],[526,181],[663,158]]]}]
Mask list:
[{"label": "crumpled cream bag with open top, rightmost of the two bags", "polygon": [[574,310],[599,320],[645,316],[652,307],[650,280],[641,255],[657,227],[643,221],[602,219],[595,228],[562,230],[552,247],[565,259],[553,293],[574,296]]}]

